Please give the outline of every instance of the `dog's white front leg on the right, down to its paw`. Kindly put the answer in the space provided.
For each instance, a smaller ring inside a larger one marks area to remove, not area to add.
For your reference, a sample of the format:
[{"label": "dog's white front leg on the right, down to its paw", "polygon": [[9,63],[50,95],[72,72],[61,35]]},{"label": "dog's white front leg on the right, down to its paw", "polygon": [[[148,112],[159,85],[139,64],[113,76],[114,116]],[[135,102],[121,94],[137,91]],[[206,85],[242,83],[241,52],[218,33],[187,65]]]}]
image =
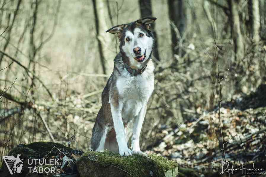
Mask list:
[{"label": "dog's white front leg on the right, down to its paw", "polygon": [[140,150],[140,132],[142,128],[142,124],[144,121],[144,117],[147,111],[147,103],[143,105],[143,107],[140,110],[139,115],[134,119],[134,124],[133,124],[133,135],[131,138],[131,149],[133,154],[140,154],[140,155],[145,155],[147,156],[146,153],[141,152]]}]

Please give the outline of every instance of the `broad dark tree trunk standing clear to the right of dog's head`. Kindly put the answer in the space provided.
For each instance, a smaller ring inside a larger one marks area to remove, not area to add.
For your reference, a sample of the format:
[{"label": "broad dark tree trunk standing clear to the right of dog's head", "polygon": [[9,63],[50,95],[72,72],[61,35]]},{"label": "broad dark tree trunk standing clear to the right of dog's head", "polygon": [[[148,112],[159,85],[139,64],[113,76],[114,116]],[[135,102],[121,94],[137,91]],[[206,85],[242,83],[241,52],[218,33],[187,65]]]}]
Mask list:
[{"label": "broad dark tree trunk standing clear to the right of dog's head", "polygon": [[182,0],[168,0],[169,19],[171,20],[172,52],[173,55],[182,56],[182,37],[186,27],[186,8]]}]

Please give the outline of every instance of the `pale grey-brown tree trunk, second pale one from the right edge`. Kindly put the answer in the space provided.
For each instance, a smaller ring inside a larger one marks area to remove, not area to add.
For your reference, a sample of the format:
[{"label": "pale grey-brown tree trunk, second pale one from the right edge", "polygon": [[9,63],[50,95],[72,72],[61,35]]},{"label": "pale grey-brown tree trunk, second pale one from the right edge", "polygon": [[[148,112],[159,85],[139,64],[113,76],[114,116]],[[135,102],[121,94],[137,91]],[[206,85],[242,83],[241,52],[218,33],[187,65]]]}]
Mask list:
[{"label": "pale grey-brown tree trunk, second pale one from the right edge", "polygon": [[231,13],[231,29],[235,49],[235,61],[238,61],[244,57],[244,43],[240,29],[238,2],[238,0],[229,0],[229,7]]}]

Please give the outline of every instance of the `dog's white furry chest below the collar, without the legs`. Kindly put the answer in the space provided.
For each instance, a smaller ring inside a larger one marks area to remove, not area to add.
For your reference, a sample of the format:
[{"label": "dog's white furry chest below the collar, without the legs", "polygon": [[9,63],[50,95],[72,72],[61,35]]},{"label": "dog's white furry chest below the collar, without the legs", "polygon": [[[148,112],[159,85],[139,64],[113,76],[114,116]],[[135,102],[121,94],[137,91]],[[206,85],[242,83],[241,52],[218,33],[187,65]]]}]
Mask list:
[{"label": "dog's white furry chest below the collar, without the legs", "polygon": [[[143,73],[144,74],[144,73]],[[122,98],[123,120],[137,116],[143,106],[147,104],[147,101],[153,92],[154,77],[147,77],[147,74],[143,76],[128,76],[118,78],[116,86],[118,93]],[[130,120],[125,120],[128,122]]]}]

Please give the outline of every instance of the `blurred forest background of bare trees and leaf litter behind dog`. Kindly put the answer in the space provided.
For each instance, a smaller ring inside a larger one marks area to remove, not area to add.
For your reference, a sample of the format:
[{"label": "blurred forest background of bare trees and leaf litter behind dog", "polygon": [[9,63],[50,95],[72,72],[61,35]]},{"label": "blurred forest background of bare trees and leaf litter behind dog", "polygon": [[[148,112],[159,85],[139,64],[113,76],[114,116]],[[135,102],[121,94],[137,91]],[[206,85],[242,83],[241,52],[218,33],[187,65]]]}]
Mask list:
[{"label": "blurred forest background of bare trees and leaf litter behind dog", "polygon": [[[222,83],[229,59],[225,142],[237,133],[235,143],[257,138],[251,153],[259,153],[266,127],[265,0],[0,0],[0,156],[40,140],[88,150],[119,46],[105,30],[145,16],[157,18],[157,43],[142,150],[192,167],[221,158],[217,59]],[[260,109],[245,114],[248,108]]]}]

